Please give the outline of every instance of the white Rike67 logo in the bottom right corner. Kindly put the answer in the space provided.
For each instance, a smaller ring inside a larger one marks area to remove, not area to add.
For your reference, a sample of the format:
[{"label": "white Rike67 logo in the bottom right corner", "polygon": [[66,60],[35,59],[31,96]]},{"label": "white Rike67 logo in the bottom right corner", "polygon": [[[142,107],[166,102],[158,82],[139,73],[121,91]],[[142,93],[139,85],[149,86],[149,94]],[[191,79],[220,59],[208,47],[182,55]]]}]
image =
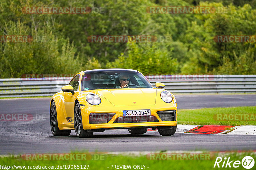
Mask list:
[{"label": "white Rike67 logo in the bottom right corner", "polygon": [[254,166],[254,159],[251,156],[245,156],[242,159],[242,161],[240,161],[240,160],[235,161],[235,160],[231,160],[230,157],[228,157],[228,159],[227,159],[227,157],[225,157],[224,159],[222,159],[222,157],[217,157],[213,167],[214,168],[215,167],[237,168],[237,167],[241,166],[241,164],[245,169],[251,169]]}]

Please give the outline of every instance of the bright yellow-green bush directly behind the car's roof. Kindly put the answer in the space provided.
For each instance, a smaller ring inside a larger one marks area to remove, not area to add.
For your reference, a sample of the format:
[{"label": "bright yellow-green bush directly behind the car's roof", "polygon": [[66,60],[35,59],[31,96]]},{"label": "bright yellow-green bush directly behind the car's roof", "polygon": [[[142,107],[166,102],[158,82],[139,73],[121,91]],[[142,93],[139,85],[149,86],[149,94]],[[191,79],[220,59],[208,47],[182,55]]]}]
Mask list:
[{"label": "bright yellow-green bush directly behind the car's roof", "polygon": [[127,48],[127,56],[122,53],[107,67],[136,69],[143,74],[174,74],[178,69],[177,59],[156,44],[127,43]]}]

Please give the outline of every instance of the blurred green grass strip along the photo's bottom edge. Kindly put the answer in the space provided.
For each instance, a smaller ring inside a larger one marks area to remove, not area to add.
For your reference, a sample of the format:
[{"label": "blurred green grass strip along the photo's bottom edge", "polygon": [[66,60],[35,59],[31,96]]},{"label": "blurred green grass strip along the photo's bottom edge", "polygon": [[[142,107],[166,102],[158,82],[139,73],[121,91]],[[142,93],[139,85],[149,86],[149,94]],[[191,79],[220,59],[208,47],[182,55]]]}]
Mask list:
[{"label": "blurred green grass strip along the photo's bottom edge", "polygon": [[[78,152],[77,152],[78,153]],[[154,152],[152,152],[154,153]],[[209,157],[204,156],[201,157],[201,154],[208,154],[211,155]],[[78,153],[79,154],[79,153]],[[159,154],[157,156],[157,154]],[[167,157],[167,154],[175,154],[175,157]],[[13,166],[15,165],[16,168],[14,169],[31,169],[28,166],[55,166],[55,168],[52,169],[90,169],[90,170],[111,170],[111,169],[117,169],[113,168],[113,165],[131,165],[131,168],[127,169],[146,169],[146,170],[170,170],[170,169],[186,169],[186,170],[195,170],[195,169],[213,169],[215,160],[217,157],[222,157],[223,160],[220,163],[220,166],[222,166],[222,163],[224,161],[224,157],[228,158],[230,157],[231,160],[239,160],[240,162],[245,156],[251,156],[254,160],[256,160],[255,152],[229,152],[229,153],[221,153],[221,152],[201,152],[193,153],[192,154],[198,154],[196,157],[192,157],[192,160],[188,159],[188,155],[190,153],[182,153],[182,155],[178,158],[178,154],[175,152],[168,152],[168,153],[155,153],[155,155],[111,155],[111,154],[104,154],[104,157],[101,157],[101,159],[96,160],[24,160],[24,158],[21,157],[21,155],[18,156],[12,156],[9,155],[7,157],[1,157],[0,158],[0,164]],[[92,154],[92,157],[95,156],[97,153]],[[101,153],[102,155],[102,153]],[[103,158],[103,159],[102,159]],[[191,158],[191,157],[190,157]],[[174,160],[173,160],[174,159]],[[178,159],[178,160],[177,160]],[[233,162],[234,162],[233,161]],[[73,166],[71,166],[73,165]],[[74,168],[76,165],[76,168]],[[81,168],[82,165],[82,168]],[[89,167],[88,167],[89,165]],[[17,166],[23,166],[23,167],[17,167]],[[25,167],[26,166],[26,167]],[[56,168],[59,166],[59,168]],[[63,168],[60,168],[60,166],[64,166]],[[79,168],[77,168],[77,166]],[[232,164],[231,164],[232,166]],[[256,165],[254,165],[256,166]],[[112,168],[111,168],[112,167]],[[136,167],[136,168],[134,168]],[[140,167],[140,168],[138,168]],[[174,168],[175,167],[175,168]],[[225,165],[224,165],[225,167]],[[39,169],[39,168],[38,168]],[[40,169],[44,169],[40,167]],[[124,169],[124,168],[123,168]],[[229,168],[232,169],[232,168]],[[244,169],[242,165],[240,165],[236,169]],[[252,168],[253,169],[253,168]]]}]

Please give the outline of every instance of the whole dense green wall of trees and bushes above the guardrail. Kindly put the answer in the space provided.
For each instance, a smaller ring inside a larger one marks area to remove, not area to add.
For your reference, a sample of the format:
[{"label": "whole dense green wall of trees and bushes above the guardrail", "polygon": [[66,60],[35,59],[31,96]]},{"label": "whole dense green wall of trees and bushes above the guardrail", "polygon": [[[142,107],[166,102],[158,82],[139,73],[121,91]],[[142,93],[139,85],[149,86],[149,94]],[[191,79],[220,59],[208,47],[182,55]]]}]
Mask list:
[{"label": "whole dense green wall of trees and bushes above the guardrail", "polygon": [[[88,6],[88,14],[27,14],[23,7]],[[227,12],[152,14],[149,6],[214,6]],[[1,0],[0,78],[131,68],[143,74],[256,74],[256,43],[220,43],[216,35],[256,35],[256,0]],[[164,42],[88,42],[91,35],[170,36]],[[38,37],[38,39],[36,39]],[[44,39],[42,40],[42,38]]]}]

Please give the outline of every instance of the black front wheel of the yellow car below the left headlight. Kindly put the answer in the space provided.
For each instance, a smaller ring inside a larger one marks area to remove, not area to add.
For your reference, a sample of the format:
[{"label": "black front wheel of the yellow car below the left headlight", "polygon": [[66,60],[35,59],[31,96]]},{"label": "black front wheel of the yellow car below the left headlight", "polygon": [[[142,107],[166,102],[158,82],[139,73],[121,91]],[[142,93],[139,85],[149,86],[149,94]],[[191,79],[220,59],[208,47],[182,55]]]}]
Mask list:
[{"label": "black front wheel of the yellow car below the left headlight", "polygon": [[76,136],[78,138],[89,138],[92,137],[93,132],[88,132],[83,128],[83,121],[81,115],[80,104],[77,103],[74,111],[74,128],[76,132]]}]

